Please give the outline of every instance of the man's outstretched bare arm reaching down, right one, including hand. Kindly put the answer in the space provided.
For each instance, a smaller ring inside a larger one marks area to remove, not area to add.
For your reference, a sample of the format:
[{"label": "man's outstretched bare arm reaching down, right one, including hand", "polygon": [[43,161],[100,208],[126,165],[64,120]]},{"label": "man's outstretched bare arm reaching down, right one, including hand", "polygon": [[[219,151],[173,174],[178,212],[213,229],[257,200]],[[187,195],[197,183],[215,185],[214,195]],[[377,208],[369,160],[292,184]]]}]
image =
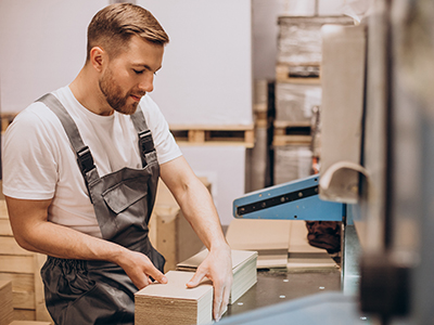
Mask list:
[{"label": "man's outstretched bare arm reaching down, right one, including hand", "polygon": [[162,164],[161,178],[174,194],[186,219],[209,250],[207,258],[187,285],[194,287],[204,276],[213,281],[214,318],[218,321],[229,302],[232,259],[213,199],[182,156]]}]

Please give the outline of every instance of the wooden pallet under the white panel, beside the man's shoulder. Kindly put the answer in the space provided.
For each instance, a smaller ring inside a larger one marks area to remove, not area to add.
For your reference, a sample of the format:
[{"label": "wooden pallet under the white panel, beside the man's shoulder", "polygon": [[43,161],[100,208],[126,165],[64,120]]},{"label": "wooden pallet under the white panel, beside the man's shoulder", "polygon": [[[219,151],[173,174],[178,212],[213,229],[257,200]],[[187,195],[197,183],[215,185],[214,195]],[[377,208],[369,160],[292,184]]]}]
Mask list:
[{"label": "wooden pallet under the white panel, beside the man's shoulder", "polygon": [[243,145],[255,144],[254,125],[248,126],[178,126],[170,125],[170,131],[181,145]]}]

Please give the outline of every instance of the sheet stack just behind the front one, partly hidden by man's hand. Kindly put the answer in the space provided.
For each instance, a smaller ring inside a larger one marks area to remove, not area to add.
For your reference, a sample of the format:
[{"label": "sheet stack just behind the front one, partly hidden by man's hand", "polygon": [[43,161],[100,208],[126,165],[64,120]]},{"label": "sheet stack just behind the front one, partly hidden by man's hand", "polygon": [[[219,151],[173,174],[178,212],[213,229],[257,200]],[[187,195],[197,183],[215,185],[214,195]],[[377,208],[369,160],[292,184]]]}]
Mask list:
[{"label": "sheet stack just behind the front one, partly hidden by man's hand", "polygon": [[[178,263],[178,271],[195,272],[205,260],[208,250],[204,249],[183,262]],[[256,273],[257,251],[232,250],[233,283],[229,297],[229,303],[234,303],[257,282]]]}]

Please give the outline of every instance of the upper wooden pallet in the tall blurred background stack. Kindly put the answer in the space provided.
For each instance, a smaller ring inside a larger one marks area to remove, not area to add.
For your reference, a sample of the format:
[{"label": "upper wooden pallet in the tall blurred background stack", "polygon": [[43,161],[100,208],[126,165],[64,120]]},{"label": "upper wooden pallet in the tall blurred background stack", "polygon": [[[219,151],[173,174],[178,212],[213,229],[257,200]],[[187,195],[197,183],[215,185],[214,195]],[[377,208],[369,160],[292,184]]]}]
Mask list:
[{"label": "upper wooden pallet in the tall blurred background stack", "polygon": [[321,84],[320,66],[318,63],[302,65],[278,63],[276,80],[278,82]]}]

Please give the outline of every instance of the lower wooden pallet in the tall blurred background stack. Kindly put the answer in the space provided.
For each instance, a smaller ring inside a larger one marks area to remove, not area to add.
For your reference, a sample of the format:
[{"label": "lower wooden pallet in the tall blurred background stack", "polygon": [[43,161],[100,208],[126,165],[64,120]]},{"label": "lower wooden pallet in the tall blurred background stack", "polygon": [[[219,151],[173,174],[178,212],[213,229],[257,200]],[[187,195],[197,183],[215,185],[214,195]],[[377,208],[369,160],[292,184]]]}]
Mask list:
[{"label": "lower wooden pallet in the tall blurred background stack", "polygon": [[310,144],[310,122],[294,122],[275,120],[275,134],[272,144],[275,146],[288,144]]}]

